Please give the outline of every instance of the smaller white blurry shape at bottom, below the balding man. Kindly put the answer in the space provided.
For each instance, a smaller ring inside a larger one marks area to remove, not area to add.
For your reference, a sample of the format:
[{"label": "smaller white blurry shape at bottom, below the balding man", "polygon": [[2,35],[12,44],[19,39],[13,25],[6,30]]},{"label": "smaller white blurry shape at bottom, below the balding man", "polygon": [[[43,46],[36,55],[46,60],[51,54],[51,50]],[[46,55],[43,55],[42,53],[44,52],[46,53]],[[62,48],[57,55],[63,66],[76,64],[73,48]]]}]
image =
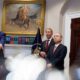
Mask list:
[{"label": "smaller white blurry shape at bottom, below the balding man", "polygon": [[67,80],[63,71],[48,69],[45,74],[46,80]]}]

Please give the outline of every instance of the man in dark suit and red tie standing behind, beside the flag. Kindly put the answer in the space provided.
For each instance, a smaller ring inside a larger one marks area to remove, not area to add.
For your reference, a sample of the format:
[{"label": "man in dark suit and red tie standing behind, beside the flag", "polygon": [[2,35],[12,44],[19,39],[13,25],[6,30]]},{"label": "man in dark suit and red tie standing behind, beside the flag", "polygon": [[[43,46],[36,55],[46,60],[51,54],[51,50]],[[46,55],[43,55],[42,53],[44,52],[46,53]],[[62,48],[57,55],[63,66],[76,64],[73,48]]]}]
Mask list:
[{"label": "man in dark suit and red tie standing behind, beside the flag", "polygon": [[46,33],[46,40],[42,42],[42,49],[41,49],[41,52],[40,52],[40,55],[43,57],[45,55],[45,53],[47,54],[50,47],[52,45],[54,45],[54,40],[52,38],[52,35],[53,35],[53,30],[51,28],[47,28],[45,30],[45,33]]}]

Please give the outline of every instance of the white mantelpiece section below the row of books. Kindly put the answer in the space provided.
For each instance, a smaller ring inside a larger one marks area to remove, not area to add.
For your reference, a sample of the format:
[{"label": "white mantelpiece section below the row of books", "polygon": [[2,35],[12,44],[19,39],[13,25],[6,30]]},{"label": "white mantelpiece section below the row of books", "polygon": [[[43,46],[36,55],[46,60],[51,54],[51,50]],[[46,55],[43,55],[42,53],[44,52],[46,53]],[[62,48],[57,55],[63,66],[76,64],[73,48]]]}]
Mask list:
[{"label": "white mantelpiece section below the row of books", "polygon": [[25,56],[31,54],[31,45],[5,45],[5,57],[16,56],[17,54],[25,54]]}]

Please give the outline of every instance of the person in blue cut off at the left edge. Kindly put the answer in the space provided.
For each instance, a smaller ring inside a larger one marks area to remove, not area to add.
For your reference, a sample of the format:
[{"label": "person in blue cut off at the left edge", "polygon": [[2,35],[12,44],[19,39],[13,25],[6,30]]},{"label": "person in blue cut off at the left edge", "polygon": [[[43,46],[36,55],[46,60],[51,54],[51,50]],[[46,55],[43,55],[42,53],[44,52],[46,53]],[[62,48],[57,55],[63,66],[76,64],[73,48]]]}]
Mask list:
[{"label": "person in blue cut off at the left edge", "polygon": [[3,48],[5,44],[5,36],[6,35],[4,32],[0,32],[0,59],[5,59],[4,52],[3,52]]}]

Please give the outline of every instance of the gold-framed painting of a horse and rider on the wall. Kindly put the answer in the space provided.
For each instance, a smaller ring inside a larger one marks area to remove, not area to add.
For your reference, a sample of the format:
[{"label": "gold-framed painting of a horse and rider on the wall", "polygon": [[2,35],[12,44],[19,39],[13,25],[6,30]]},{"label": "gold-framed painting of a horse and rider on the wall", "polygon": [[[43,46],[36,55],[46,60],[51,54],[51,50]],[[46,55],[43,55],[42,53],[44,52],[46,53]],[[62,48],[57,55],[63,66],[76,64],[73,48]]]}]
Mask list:
[{"label": "gold-framed painting of a horse and rider on the wall", "polygon": [[4,0],[2,31],[6,34],[44,33],[45,0]]}]

